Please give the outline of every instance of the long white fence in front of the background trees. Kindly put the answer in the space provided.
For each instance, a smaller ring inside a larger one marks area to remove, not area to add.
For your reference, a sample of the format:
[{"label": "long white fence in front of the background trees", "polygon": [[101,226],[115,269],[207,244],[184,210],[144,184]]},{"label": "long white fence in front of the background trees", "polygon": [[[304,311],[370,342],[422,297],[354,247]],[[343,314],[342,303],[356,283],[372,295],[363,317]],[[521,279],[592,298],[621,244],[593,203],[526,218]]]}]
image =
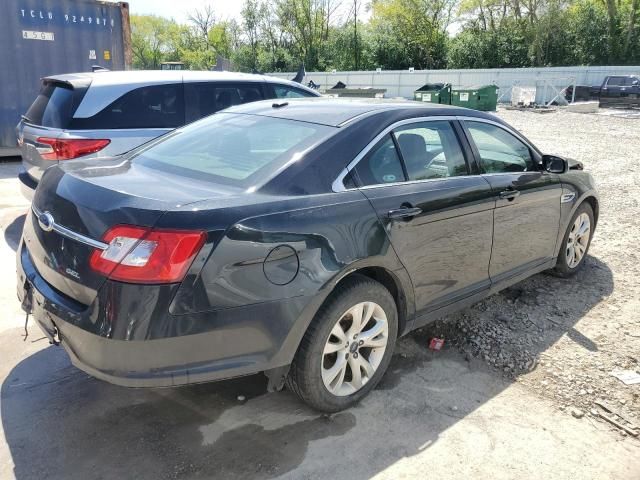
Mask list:
[{"label": "long white fence in front of the background trees", "polygon": [[[630,74],[640,74],[640,66],[307,72],[304,82],[313,80],[321,90],[331,88],[338,81],[348,87],[386,88],[387,98],[413,98],[414,90],[425,83],[451,83],[465,87],[494,84],[500,89],[498,95],[501,102],[510,101],[511,88],[517,85],[536,87],[536,102],[546,103],[569,85],[599,85],[607,75]],[[295,73],[271,75],[291,79]]]}]

